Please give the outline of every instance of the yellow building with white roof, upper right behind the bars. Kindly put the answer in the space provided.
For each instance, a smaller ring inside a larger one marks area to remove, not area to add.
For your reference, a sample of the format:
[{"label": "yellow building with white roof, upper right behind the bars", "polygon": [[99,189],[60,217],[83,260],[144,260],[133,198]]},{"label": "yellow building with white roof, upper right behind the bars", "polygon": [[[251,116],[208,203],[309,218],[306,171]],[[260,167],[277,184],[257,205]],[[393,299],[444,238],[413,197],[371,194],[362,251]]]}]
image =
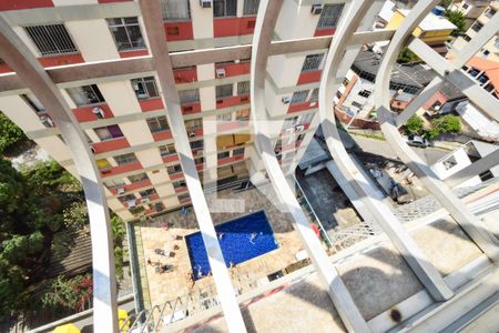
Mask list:
[{"label": "yellow building with white roof, upper right behind the bars", "polygon": [[[386,29],[397,29],[410,10],[397,9],[389,20]],[[413,36],[420,38],[428,46],[439,53],[447,53],[446,42],[450,40],[450,34],[457,27],[444,17],[444,9],[437,7],[432,12],[419,23]]]}]

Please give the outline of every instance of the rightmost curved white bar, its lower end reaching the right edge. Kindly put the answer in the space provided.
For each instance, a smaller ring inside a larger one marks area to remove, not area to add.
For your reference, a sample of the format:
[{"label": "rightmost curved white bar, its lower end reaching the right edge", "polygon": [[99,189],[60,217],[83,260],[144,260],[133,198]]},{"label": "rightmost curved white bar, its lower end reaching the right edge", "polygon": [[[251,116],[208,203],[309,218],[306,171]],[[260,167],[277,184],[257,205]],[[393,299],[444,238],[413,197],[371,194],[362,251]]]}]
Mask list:
[{"label": "rightmost curved white bar, its lower end reaching the right edge", "polygon": [[[385,57],[379,67],[376,79],[375,101],[378,121],[390,147],[400,160],[421,180],[428,191],[435,195],[440,204],[465,229],[477,245],[495,262],[499,260],[497,240],[480,225],[479,220],[464,205],[449,188],[430,170],[430,168],[408,147],[398,132],[395,115],[389,109],[389,82],[395,61],[403,46],[410,38],[411,32],[428,12],[438,4],[438,0],[419,1],[409,12],[403,24],[394,34]],[[422,42],[421,42],[422,43]]]}]

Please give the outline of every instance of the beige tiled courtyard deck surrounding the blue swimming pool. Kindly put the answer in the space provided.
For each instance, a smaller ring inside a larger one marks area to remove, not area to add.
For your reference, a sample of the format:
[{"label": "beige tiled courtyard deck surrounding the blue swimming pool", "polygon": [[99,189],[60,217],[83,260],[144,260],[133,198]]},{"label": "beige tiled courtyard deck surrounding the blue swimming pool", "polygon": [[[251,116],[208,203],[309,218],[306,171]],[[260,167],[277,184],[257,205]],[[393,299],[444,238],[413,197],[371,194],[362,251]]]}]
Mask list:
[{"label": "beige tiled courtyard deck surrounding the blue swimming pool", "polygon": [[[262,192],[265,192],[266,195]],[[244,191],[224,190],[217,192],[217,199],[236,199],[240,202],[223,202],[216,204],[212,201],[214,195],[207,195],[208,205],[212,211],[214,224],[220,224],[237,216],[264,210],[274,231],[274,236],[279,245],[278,249],[246,262],[240,263],[230,269],[234,289],[242,293],[262,283],[262,278],[271,273],[283,270],[297,260],[295,258],[302,248],[298,234],[292,225],[292,218],[287,213],[281,212],[274,202],[276,195],[269,185],[263,189],[249,189]],[[271,200],[268,199],[271,198]],[[224,211],[221,206],[226,206],[231,211],[236,208],[238,212],[214,212]],[[170,228],[164,228],[170,224]],[[142,289],[149,292],[144,295],[151,304],[161,304],[166,301],[175,301],[177,296],[196,294],[200,299],[204,291],[215,291],[213,278],[207,276],[196,282],[189,281],[187,276],[192,272],[185,235],[198,231],[196,219],[192,208],[187,214],[181,211],[170,212],[153,220],[142,222],[136,225],[140,229],[138,236],[141,236],[143,256],[140,264],[145,268],[146,279],[142,281]],[[162,249],[165,253],[174,253],[173,256],[160,255],[155,249]],[[147,260],[152,262],[147,263]],[[160,273],[155,263],[161,265],[172,265],[171,272]],[[147,285],[144,285],[147,284]],[[191,297],[192,300],[192,297]]]}]

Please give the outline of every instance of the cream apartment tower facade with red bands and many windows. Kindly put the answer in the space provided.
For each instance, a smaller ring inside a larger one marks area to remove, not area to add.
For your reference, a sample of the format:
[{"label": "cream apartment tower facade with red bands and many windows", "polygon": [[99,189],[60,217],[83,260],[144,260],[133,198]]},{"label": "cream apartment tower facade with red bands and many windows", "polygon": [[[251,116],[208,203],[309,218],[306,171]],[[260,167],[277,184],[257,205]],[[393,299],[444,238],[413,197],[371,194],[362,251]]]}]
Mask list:
[{"label": "cream apartment tower facade with red bands and many windows", "polygon": [[[165,43],[179,53],[249,44],[258,2],[162,0]],[[286,1],[276,38],[330,36],[343,8],[342,3]],[[0,11],[44,68],[71,70],[85,63],[151,57],[136,1],[9,1],[0,4]],[[269,59],[266,84],[271,89],[265,98],[275,129],[275,151],[286,173],[293,172],[317,127],[324,52],[309,50]],[[262,180],[264,168],[248,125],[248,60],[174,68],[196,169],[206,182]],[[12,75],[4,62],[0,74]],[[108,204],[125,221],[179,209],[191,200],[157,80],[154,71],[108,72],[58,84],[94,153]],[[32,92],[2,89],[0,110],[78,176],[50,110]]]}]

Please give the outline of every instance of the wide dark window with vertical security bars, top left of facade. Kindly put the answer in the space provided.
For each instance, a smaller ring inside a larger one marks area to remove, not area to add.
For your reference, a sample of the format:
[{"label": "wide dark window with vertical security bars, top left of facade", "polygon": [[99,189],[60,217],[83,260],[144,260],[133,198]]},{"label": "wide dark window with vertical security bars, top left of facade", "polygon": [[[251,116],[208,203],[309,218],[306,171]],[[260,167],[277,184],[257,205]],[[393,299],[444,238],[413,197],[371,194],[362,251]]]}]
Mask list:
[{"label": "wide dark window with vertical security bars, top left of facade", "polygon": [[78,52],[64,24],[24,27],[24,30],[42,56]]}]

